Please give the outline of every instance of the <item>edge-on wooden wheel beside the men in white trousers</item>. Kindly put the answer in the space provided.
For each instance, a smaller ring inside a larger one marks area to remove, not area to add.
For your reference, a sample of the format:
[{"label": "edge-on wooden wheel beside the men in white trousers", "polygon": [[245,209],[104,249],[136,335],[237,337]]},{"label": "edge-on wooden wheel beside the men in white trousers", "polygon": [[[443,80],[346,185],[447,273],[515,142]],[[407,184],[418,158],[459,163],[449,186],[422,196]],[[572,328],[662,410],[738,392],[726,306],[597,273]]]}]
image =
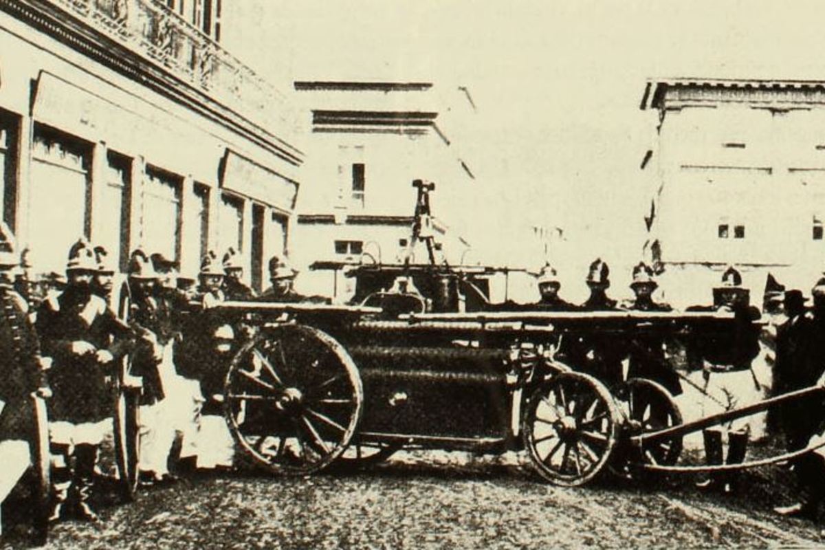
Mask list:
[{"label": "edge-on wooden wheel beside the men in white trousers", "polygon": [[[118,317],[129,321],[131,305],[129,285],[120,287]],[[120,494],[126,501],[134,499],[138,488],[138,462],[140,453],[140,388],[128,383],[129,357],[125,357],[115,380],[112,415],[115,432],[115,463],[117,465]]]}]

